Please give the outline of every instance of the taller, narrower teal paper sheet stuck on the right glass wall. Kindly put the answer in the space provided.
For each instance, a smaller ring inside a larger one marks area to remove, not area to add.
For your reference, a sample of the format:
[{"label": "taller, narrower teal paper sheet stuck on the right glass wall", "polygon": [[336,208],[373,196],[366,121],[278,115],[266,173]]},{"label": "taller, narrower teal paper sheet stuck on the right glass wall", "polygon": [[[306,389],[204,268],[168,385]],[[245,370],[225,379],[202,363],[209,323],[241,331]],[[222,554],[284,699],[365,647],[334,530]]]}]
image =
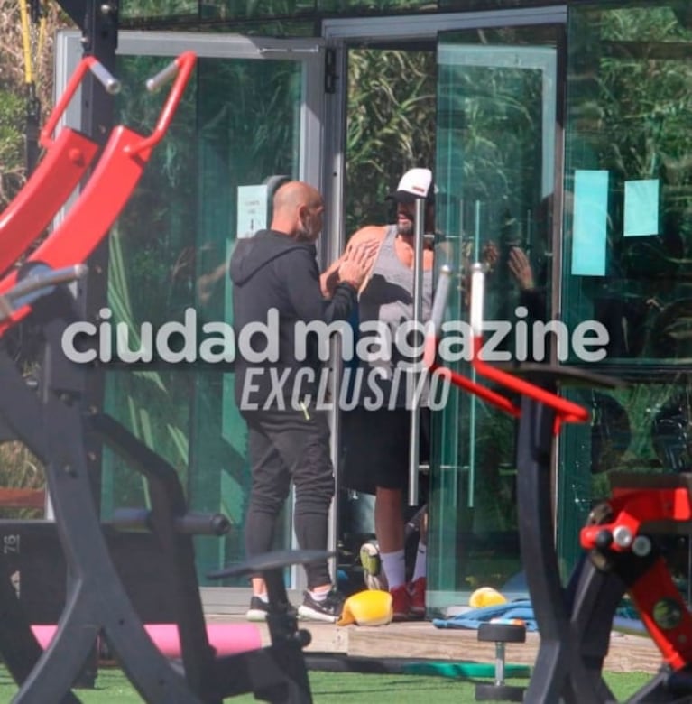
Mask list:
[{"label": "taller, narrower teal paper sheet stuck on the right glass wall", "polygon": [[572,220],[572,273],[604,276],[608,227],[608,171],[577,169]]}]

